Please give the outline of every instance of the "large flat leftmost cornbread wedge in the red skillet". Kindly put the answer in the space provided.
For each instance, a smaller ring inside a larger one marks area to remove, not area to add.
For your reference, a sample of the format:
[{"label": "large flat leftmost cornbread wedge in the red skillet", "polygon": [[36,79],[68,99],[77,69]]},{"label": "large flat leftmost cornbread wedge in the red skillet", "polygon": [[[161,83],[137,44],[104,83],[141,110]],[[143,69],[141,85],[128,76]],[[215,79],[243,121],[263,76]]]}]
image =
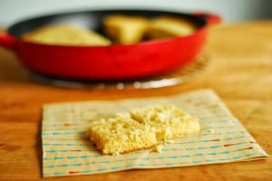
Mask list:
[{"label": "large flat leftmost cornbread wedge in the red skillet", "polygon": [[39,28],[23,36],[25,41],[54,45],[99,45],[111,44],[111,41],[91,30],[73,24],[55,24]]}]

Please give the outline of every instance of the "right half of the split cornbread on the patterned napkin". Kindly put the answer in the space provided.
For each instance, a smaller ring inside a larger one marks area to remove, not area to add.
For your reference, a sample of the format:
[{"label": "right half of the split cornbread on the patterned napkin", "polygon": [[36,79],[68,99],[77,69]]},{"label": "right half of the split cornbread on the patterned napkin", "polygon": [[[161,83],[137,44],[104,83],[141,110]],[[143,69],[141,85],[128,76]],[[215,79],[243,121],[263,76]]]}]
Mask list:
[{"label": "right half of the split cornbread on the patterned napkin", "polygon": [[198,119],[174,105],[151,105],[131,110],[131,118],[156,129],[158,140],[179,138],[199,132]]}]

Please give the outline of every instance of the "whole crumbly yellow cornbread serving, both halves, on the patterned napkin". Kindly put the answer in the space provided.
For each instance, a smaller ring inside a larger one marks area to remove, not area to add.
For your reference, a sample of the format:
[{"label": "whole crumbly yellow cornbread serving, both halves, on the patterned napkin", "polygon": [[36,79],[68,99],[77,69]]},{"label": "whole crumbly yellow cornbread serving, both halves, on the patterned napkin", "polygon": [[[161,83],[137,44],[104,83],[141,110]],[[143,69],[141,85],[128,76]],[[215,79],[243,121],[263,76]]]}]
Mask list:
[{"label": "whole crumbly yellow cornbread serving, both halves, on the patterned napkin", "polygon": [[174,105],[151,105],[93,121],[90,138],[103,154],[118,155],[197,132],[198,119],[185,111]]}]

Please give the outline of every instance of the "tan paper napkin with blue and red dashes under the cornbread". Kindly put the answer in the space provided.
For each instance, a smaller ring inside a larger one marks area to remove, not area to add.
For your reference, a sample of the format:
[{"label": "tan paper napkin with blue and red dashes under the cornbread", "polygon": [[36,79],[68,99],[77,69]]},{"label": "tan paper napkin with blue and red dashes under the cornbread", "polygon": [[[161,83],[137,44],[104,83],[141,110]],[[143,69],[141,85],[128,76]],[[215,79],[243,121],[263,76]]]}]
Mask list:
[{"label": "tan paper napkin with blue and red dashes under the cornbread", "polygon": [[[88,138],[92,120],[158,103],[174,104],[199,118],[199,134],[165,143],[160,152],[151,148],[120,156],[102,155]],[[44,176],[185,167],[267,157],[213,90],[194,90],[148,99],[46,104],[42,125]]]}]

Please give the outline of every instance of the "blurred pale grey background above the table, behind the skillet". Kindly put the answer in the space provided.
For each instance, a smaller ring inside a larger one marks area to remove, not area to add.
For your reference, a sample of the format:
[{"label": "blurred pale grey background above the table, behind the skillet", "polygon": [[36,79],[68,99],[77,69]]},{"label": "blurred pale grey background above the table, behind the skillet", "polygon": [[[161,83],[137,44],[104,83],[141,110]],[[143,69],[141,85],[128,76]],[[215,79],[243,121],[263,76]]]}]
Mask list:
[{"label": "blurred pale grey background above the table, behind the skillet", "polygon": [[0,25],[40,14],[113,7],[209,11],[221,14],[227,24],[272,18],[272,0],[0,0]]}]

